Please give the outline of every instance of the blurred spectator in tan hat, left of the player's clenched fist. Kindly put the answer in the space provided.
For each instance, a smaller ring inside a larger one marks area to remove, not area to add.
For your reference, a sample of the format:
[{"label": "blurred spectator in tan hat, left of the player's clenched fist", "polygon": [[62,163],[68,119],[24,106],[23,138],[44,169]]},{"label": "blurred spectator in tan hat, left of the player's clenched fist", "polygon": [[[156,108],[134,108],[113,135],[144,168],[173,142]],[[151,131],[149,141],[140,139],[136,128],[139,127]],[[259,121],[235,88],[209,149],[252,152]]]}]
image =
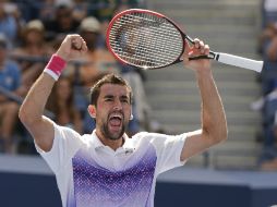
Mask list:
[{"label": "blurred spectator in tan hat, left of the player's clenched fist", "polygon": [[52,53],[45,40],[45,28],[39,20],[29,21],[22,31],[22,46],[11,54],[19,60],[22,70],[22,84],[26,92],[44,69],[44,59]]}]

